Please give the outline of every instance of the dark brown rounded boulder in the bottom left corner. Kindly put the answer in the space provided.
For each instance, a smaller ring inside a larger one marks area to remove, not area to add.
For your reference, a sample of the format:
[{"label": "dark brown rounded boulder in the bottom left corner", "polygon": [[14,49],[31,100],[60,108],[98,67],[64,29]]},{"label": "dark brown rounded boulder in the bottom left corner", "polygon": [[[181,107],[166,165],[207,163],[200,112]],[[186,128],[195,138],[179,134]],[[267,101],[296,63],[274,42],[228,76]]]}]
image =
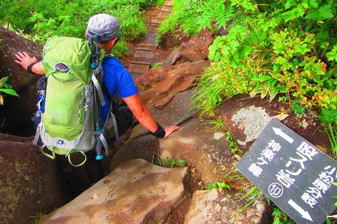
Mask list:
[{"label": "dark brown rounded boulder in the bottom left corner", "polygon": [[32,139],[8,135],[0,139],[1,223],[32,223],[33,216],[69,200],[57,165],[32,146]]}]

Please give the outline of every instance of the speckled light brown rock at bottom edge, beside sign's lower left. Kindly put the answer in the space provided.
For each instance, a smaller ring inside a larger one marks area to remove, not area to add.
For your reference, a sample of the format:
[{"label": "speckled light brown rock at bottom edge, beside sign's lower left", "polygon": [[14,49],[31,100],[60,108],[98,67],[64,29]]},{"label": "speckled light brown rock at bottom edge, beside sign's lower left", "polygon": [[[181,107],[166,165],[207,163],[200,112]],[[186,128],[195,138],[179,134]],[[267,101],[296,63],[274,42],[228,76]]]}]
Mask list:
[{"label": "speckled light brown rock at bottom edge, beside sign's lower left", "polygon": [[244,209],[251,199],[239,200],[239,197],[243,196],[243,193],[219,193],[216,189],[197,190],[193,193],[184,223],[270,223],[270,209],[267,203],[257,201]]}]

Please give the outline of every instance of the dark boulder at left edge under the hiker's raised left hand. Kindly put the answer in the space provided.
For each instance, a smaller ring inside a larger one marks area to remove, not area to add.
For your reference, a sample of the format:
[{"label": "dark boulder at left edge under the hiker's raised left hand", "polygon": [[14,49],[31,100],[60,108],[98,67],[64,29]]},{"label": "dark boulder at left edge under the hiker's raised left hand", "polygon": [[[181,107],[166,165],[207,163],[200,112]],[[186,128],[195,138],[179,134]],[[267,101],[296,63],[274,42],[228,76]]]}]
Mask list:
[{"label": "dark boulder at left edge under the hiker's raised left hand", "polygon": [[11,124],[2,131],[29,136],[34,132],[30,116],[37,110],[36,82],[40,76],[29,74],[22,66],[16,64],[14,59],[18,51],[25,51],[41,59],[42,46],[4,28],[0,28],[0,39],[0,78],[8,76],[8,83],[13,85],[13,89],[20,95],[7,95],[4,106],[0,107],[0,117],[6,118],[6,123]]}]

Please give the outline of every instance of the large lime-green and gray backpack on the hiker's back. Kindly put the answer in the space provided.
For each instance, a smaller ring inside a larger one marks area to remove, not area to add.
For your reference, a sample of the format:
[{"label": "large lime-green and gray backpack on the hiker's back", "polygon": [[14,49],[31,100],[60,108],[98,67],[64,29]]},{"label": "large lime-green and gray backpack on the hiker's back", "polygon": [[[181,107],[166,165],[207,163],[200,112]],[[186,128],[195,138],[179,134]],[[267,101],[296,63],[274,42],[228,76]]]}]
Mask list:
[{"label": "large lime-green and gray backpack on the hiker's back", "polygon": [[[79,38],[52,37],[44,45],[43,62],[48,83],[46,103],[34,142],[41,137],[42,153],[55,159],[55,153],[66,155],[75,167],[86,162],[86,151],[96,150],[96,159],[103,158],[102,148],[107,153],[106,137],[113,130],[118,139],[117,123],[112,105],[105,123],[100,121],[100,106],[105,105],[103,90],[104,57],[93,43]],[[93,68],[92,68],[93,67]],[[111,104],[112,102],[110,102]],[[109,127],[110,126],[110,127]],[[112,127],[111,127],[112,126]],[[45,149],[51,154],[45,152]],[[72,153],[84,155],[84,162],[74,165]]]}]

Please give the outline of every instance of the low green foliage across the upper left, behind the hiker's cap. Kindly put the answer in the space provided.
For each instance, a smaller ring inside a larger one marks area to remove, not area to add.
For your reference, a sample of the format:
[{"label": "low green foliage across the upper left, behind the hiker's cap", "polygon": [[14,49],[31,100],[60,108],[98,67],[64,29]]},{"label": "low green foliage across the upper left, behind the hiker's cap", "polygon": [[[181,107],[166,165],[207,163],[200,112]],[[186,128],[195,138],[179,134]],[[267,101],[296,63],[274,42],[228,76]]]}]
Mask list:
[{"label": "low green foliage across the upper left, behind the hiker's cap", "polygon": [[92,15],[114,15],[120,22],[122,39],[113,51],[117,57],[128,51],[123,40],[133,41],[145,34],[143,11],[156,3],[157,0],[4,0],[0,1],[0,23],[11,23],[13,29],[44,43],[46,38],[55,35],[84,38]]}]

